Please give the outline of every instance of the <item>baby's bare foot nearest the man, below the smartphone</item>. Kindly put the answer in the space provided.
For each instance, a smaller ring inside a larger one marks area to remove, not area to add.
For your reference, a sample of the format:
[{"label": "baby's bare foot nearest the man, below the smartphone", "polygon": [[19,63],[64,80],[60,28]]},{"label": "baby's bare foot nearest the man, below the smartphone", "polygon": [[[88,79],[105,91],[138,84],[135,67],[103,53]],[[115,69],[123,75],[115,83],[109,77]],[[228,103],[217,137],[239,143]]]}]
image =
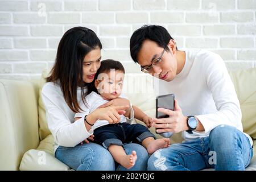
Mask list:
[{"label": "baby's bare foot nearest the man, below the smartphone", "polygon": [[166,148],[170,146],[170,139],[168,138],[159,138],[156,139],[147,146],[147,152],[148,154],[153,154],[155,151],[157,151],[160,148]]}]

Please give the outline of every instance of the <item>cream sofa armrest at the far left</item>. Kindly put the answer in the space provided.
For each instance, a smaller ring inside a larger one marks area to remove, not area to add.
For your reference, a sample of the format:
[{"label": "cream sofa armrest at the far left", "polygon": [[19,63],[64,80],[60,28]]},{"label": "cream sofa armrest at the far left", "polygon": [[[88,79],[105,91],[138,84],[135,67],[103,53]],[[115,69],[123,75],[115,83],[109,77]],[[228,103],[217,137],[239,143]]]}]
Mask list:
[{"label": "cream sofa armrest at the far left", "polygon": [[23,154],[38,147],[38,94],[30,81],[0,79],[0,170],[18,170]]}]

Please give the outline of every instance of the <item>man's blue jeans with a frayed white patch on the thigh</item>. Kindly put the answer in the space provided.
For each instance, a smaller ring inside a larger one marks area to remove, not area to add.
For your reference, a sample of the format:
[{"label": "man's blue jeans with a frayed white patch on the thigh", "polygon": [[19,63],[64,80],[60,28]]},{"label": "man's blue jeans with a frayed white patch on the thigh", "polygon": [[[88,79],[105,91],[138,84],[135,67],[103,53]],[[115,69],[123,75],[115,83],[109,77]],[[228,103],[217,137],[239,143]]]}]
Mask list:
[{"label": "man's blue jeans with a frayed white patch on the thigh", "polygon": [[148,159],[148,170],[245,170],[253,157],[249,139],[235,127],[220,125],[209,137],[172,144]]}]

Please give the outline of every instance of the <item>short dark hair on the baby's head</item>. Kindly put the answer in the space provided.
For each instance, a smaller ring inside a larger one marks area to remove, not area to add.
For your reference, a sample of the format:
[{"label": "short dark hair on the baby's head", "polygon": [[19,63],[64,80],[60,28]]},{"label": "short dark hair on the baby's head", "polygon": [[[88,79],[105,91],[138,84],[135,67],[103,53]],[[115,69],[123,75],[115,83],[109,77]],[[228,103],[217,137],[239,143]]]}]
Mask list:
[{"label": "short dark hair on the baby's head", "polygon": [[95,80],[98,79],[98,75],[100,75],[100,73],[109,73],[111,69],[125,73],[125,68],[123,68],[122,63],[120,63],[119,61],[115,61],[113,59],[106,59],[101,61],[101,67],[97,70],[93,82],[88,85],[88,94],[92,91],[98,93],[98,90],[94,86]]}]

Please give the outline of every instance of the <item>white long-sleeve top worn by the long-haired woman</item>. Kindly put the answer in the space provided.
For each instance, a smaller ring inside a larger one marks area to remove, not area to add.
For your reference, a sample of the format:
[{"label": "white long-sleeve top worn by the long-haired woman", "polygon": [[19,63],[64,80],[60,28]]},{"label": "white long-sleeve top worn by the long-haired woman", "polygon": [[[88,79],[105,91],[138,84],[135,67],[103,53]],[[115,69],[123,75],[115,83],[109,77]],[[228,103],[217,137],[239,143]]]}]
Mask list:
[{"label": "white long-sleeve top worn by the long-haired woman", "polygon": [[[85,92],[87,88],[85,88]],[[51,131],[54,143],[54,152],[57,147],[74,147],[90,135],[93,130],[86,130],[84,118],[75,122],[74,113],[64,100],[58,82],[47,82],[42,88],[42,100],[46,107],[46,119],[48,128]],[[81,88],[77,88],[77,101],[81,102]],[[133,119],[134,111],[131,107],[130,118]]]}]

